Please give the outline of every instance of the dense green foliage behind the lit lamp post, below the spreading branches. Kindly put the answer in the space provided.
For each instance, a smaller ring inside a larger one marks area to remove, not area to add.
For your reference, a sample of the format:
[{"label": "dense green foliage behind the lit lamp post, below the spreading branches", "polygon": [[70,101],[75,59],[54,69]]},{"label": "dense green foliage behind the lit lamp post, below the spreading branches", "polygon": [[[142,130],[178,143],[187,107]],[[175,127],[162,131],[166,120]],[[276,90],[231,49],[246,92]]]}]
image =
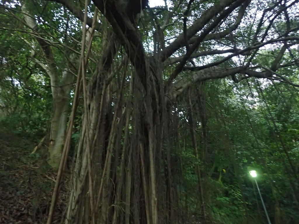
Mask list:
[{"label": "dense green foliage behind the lit lamp post, below the spreading branches", "polygon": [[[210,174],[202,177],[202,185],[206,212],[213,223],[245,223],[246,218],[248,223],[263,223],[265,217],[257,210],[257,207],[262,209],[262,205],[249,177],[250,169],[258,172],[258,182],[271,219],[277,202],[285,223],[294,223],[295,219],[289,217],[299,215],[293,199],[294,187],[297,189],[298,185],[289,173],[293,171],[286,155],[287,152],[292,165],[298,168],[299,119],[295,112],[299,109],[298,94],[277,83],[260,88],[263,92],[257,86],[235,88],[226,80],[207,83],[209,159],[205,163],[202,159],[196,161],[189,135],[184,137],[184,141],[189,142],[188,147],[178,152],[183,168],[183,189],[189,192],[185,200],[195,214],[200,214],[202,208],[192,206],[196,200],[201,200],[198,190],[193,187],[198,182],[194,165],[200,165],[202,172]],[[200,121],[199,114],[195,112],[194,116]],[[186,117],[180,119],[186,125]],[[200,134],[198,137],[200,146]],[[201,152],[200,158],[202,156]],[[274,196],[271,188],[278,194]]]}]

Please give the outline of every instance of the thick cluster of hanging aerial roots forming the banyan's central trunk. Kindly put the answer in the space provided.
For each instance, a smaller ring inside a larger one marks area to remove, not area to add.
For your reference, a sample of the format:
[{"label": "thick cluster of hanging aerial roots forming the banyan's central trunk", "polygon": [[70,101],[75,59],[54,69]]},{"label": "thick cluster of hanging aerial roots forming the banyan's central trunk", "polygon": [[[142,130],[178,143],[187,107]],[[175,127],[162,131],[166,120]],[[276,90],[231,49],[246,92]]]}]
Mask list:
[{"label": "thick cluster of hanging aerial roots forming the banyan's central trunk", "polygon": [[[109,44],[106,49],[111,52]],[[128,73],[129,62],[124,57],[122,71],[110,70],[104,58],[98,69],[101,73],[89,85],[89,110],[84,114],[89,119],[83,121],[66,224],[86,223],[80,219],[83,213],[90,223],[158,223],[157,174],[164,132],[162,117],[166,111],[162,73],[146,65],[147,76],[142,82],[138,73]],[[158,81],[153,79],[153,72]],[[118,79],[111,79],[112,76]],[[87,181],[88,173],[91,182]],[[88,205],[91,203],[94,212]]]}]

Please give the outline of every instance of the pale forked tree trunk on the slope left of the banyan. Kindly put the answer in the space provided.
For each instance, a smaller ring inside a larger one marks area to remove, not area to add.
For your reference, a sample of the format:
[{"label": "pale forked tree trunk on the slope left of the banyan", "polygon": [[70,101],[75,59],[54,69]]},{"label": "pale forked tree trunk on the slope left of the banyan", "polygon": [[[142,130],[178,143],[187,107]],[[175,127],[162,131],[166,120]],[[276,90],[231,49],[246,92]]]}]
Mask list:
[{"label": "pale forked tree trunk on the slope left of the banyan", "polygon": [[[76,61],[76,57],[74,55],[71,56],[65,65],[62,75],[60,75],[55,64],[51,47],[46,40],[39,38],[36,21],[29,14],[29,11],[24,3],[22,5],[22,12],[27,26],[32,30],[32,32],[36,33],[36,41],[42,49],[46,62],[43,63],[35,59],[35,51],[37,50],[35,48],[35,42],[31,43],[31,45],[34,46],[31,53],[33,61],[40,65],[40,67],[42,67],[42,69],[45,70],[50,77],[51,93],[53,98],[53,116],[48,146],[48,163],[52,166],[52,168],[58,169],[65,141],[70,105],[70,93],[73,88],[74,81],[72,68],[74,68],[73,62]],[[30,44],[28,41],[26,42]]]}]

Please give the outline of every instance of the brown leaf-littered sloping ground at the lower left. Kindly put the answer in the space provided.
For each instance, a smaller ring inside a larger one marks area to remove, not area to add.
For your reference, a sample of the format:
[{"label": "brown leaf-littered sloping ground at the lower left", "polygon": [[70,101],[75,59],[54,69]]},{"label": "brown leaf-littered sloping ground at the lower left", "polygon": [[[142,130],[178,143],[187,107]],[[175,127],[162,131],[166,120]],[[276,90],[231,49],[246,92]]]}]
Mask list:
[{"label": "brown leaf-littered sloping ground at the lower left", "polygon": [[[47,164],[45,155],[31,154],[37,143],[1,130],[0,223],[42,224],[47,221],[56,172]],[[69,175],[64,179],[68,183]],[[67,191],[66,187],[60,191],[53,223],[60,223]]]}]

